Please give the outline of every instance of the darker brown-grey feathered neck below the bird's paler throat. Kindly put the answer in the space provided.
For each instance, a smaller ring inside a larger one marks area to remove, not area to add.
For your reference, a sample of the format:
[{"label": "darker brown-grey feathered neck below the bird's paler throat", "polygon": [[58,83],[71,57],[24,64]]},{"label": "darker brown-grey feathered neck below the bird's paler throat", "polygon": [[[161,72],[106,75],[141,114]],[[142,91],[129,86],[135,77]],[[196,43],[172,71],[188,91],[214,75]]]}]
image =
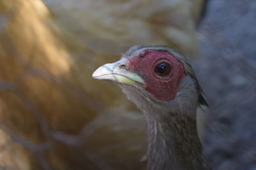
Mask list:
[{"label": "darker brown-grey feathered neck below the bird's paler throat", "polygon": [[148,118],[148,169],[209,169],[202,155],[195,118],[170,113]]}]

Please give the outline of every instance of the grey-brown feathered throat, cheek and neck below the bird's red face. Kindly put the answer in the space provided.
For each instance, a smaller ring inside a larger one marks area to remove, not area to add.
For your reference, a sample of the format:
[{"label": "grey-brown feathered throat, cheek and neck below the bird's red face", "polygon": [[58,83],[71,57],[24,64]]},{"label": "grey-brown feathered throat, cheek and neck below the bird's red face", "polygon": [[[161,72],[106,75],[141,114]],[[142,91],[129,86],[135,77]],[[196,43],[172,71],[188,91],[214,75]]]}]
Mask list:
[{"label": "grey-brown feathered throat, cheek and neck below the bird's red face", "polygon": [[169,102],[154,101],[142,87],[120,85],[148,121],[148,169],[208,170],[196,129],[198,94],[186,76]]}]

